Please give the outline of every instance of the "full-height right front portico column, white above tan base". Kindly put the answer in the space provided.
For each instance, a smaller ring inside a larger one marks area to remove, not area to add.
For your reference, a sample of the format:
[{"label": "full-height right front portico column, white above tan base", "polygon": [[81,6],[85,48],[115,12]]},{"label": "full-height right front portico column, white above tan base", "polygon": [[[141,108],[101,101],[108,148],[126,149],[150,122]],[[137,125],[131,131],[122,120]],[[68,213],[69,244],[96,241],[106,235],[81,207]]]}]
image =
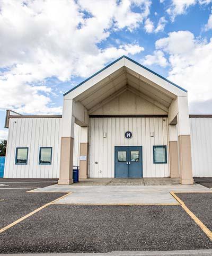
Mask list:
[{"label": "full-height right front portico column, white above tan base", "polygon": [[180,183],[193,184],[188,98],[178,97],[178,148]]}]

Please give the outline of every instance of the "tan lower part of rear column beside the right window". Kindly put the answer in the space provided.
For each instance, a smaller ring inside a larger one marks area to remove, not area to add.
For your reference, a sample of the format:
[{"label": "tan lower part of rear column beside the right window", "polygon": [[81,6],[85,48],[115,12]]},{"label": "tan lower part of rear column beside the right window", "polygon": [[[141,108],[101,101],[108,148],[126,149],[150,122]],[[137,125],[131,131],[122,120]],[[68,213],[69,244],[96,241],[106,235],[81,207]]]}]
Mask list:
[{"label": "tan lower part of rear column beside the right window", "polygon": [[169,156],[170,156],[170,177],[179,178],[179,167],[178,167],[178,142],[169,142]]}]

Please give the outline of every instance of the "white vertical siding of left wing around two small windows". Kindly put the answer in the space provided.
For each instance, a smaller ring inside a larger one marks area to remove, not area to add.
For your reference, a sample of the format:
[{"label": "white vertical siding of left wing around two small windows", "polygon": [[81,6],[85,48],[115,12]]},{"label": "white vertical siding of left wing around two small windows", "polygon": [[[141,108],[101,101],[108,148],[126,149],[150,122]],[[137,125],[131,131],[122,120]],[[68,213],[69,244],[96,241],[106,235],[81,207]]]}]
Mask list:
[{"label": "white vertical siding of left wing around two small windows", "polygon": [[[4,178],[59,178],[61,118],[10,120]],[[74,161],[79,165],[80,126],[75,124]],[[16,165],[16,147],[28,147],[28,164]],[[40,147],[52,147],[51,165],[39,165]]]}]

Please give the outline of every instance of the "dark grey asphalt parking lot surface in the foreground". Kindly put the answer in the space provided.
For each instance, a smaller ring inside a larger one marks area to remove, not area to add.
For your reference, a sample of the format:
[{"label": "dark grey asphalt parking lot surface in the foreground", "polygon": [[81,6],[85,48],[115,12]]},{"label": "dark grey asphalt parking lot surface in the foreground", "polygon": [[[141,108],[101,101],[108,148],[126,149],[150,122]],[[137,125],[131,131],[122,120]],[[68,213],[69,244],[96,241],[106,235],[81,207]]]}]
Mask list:
[{"label": "dark grey asphalt parking lot surface in the foreground", "polygon": [[[9,184],[10,189],[0,187],[1,228],[66,195],[28,193],[31,189],[21,188],[26,183],[19,183],[20,187],[14,184],[17,183]],[[40,188],[44,184],[34,182],[32,187]],[[178,193],[177,196],[211,230],[212,193]],[[180,205],[51,204],[0,236],[0,253],[212,249],[212,241]]]}]

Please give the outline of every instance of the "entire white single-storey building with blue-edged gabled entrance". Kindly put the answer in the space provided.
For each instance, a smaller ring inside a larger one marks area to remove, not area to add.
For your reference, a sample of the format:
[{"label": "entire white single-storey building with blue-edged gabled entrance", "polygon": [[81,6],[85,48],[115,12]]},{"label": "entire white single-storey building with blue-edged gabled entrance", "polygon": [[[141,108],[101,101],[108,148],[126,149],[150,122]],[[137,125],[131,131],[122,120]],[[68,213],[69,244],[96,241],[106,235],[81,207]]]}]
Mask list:
[{"label": "entire white single-storey building with blue-edged gabled entrance", "polygon": [[[64,94],[62,116],[7,110],[5,178],[212,176],[211,116],[190,116],[187,91],[122,56]],[[206,138],[207,137],[207,138]]]}]

